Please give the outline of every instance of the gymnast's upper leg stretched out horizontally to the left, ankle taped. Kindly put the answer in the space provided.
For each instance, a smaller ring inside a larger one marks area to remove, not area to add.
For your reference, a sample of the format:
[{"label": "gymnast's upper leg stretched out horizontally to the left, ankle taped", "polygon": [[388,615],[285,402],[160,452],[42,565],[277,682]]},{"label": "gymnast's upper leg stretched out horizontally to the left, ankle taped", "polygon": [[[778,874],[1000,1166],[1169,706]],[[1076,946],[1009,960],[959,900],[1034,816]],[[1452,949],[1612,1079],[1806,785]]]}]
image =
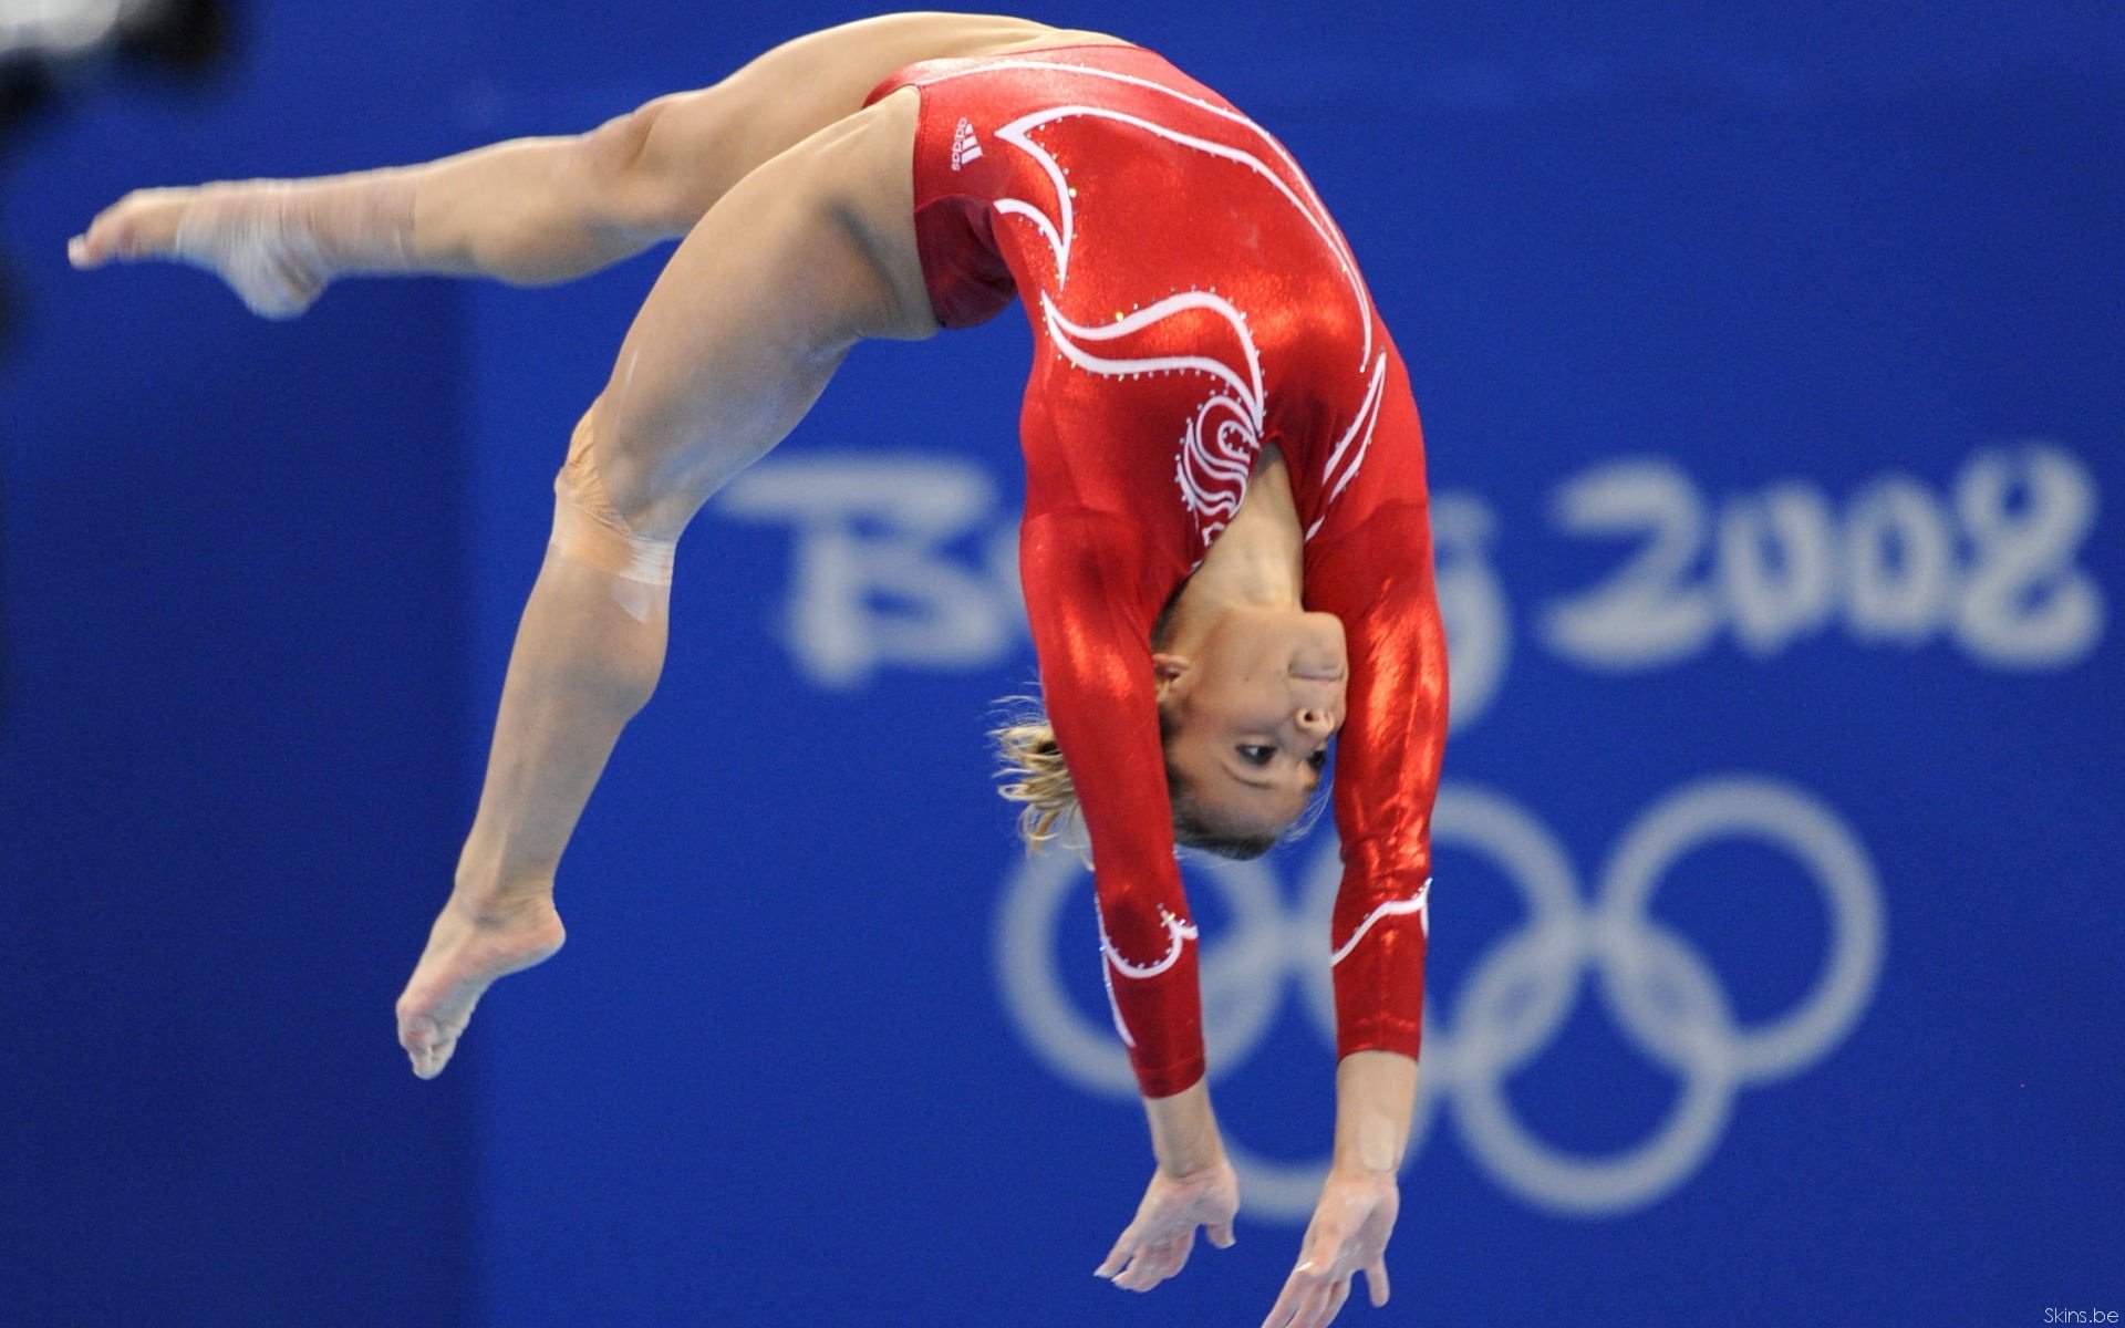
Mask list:
[{"label": "gymnast's upper leg stretched out horizontally to the left, ankle taped", "polygon": [[355,272],[442,272],[550,285],[688,234],[763,161],[854,115],[892,70],[1052,34],[1024,19],[914,13],[776,47],[722,83],[589,134],[518,138],[425,166],[310,181],[142,189],[104,210],[76,268],[176,259],[217,272],[255,312],[291,319]]}]

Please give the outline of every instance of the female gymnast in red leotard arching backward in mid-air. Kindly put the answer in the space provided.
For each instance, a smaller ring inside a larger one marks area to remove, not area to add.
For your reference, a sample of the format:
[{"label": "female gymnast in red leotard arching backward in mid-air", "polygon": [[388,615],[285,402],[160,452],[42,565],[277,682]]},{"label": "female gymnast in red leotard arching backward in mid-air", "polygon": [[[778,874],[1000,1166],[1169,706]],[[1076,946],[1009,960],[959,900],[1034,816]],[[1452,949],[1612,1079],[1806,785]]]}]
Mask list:
[{"label": "female gymnast in red leotard arching backward in mid-air", "polygon": [[414,1073],[442,1071],[489,984],[561,948],[555,869],[663,667],[688,518],[858,340],[1022,297],[1020,567],[1052,731],[999,733],[1005,795],[1031,841],[1082,814],[1156,1154],[1099,1275],[1150,1290],[1196,1228],[1232,1241],[1175,841],[1273,844],[1341,729],[1334,1160],[1266,1326],[1326,1324],[1356,1273],[1383,1305],[1445,742],[1424,444],[1341,232],[1224,98],[1111,36],[895,15],[574,138],[132,193],[70,255],[198,263],[293,317],[342,274],[557,283],[667,238],[555,480],[478,814],[397,1003]]}]

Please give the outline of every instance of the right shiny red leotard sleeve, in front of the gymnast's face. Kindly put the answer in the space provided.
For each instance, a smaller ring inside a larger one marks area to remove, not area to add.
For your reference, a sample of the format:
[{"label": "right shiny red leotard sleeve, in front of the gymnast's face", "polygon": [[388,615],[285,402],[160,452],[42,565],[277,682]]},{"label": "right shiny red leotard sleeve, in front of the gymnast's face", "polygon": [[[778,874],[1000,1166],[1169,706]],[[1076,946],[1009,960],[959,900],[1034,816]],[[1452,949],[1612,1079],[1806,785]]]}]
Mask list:
[{"label": "right shiny red leotard sleeve, in front of the gymnast's face", "polygon": [[1447,735],[1447,642],[1430,548],[1417,472],[1352,531],[1307,550],[1307,603],[1343,618],[1352,667],[1334,756],[1339,1056],[1415,1056],[1424,1028],[1432,799]]}]

